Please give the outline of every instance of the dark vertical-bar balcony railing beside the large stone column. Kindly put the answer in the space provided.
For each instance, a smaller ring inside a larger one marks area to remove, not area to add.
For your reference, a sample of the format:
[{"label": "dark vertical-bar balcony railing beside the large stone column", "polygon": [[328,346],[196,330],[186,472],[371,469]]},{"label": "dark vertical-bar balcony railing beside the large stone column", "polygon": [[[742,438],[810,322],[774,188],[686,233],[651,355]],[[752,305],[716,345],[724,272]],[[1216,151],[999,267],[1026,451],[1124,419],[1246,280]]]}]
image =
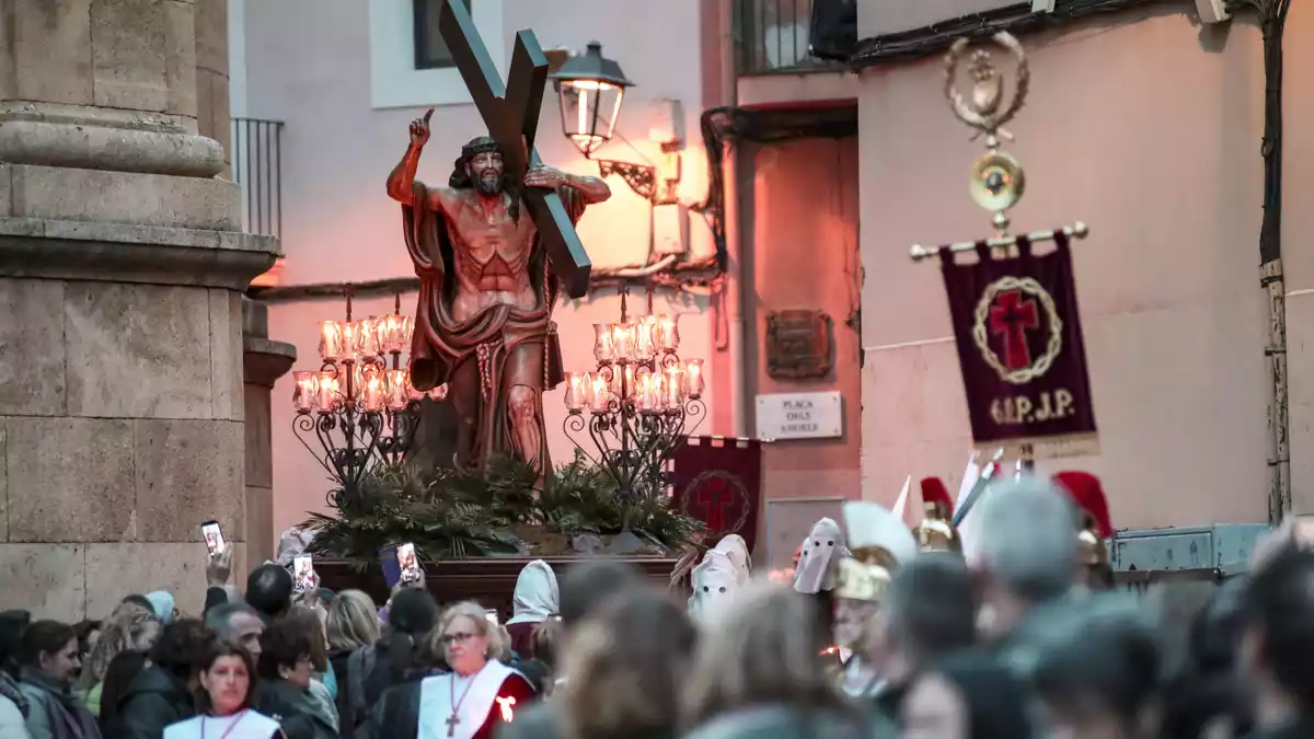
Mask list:
[{"label": "dark vertical-bar balcony railing beside the large stone column", "polygon": [[233,118],[233,180],[247,233],[283,238],[283,121]]}]

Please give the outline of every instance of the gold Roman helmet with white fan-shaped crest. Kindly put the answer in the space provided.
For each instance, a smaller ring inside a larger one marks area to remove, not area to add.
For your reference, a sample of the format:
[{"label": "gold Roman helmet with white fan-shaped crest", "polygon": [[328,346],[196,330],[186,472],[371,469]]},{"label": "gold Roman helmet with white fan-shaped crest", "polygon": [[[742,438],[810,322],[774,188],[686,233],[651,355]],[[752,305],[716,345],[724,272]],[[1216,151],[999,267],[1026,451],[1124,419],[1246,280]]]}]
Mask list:
[{"label": "gold Roman helmet with white fan-shaped crest", "polygon": [[840,561],[834,594],[854,601],[879,602],[900,563],[917,552],[917,542],[888,509],[874,502],[844,504],[850,556]]}]

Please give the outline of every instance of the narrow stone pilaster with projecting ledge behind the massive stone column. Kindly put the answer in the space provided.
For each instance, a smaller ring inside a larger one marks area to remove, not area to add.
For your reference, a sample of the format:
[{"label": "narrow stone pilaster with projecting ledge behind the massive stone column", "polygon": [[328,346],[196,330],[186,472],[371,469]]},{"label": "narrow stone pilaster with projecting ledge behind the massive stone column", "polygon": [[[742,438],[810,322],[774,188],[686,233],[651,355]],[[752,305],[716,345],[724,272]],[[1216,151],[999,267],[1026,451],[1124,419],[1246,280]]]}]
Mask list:
[{"label": "narrow stone pilaster with projecting ledge behind the massive stone column", "polygon": [[[269,309],[242,298],[242,368],[246,383],[247,559],[273,559],[273,446],[269,402],[273,383],[292,370],[297,347],[269,341]],[[292,402],[290,398],[281,398]]]}]

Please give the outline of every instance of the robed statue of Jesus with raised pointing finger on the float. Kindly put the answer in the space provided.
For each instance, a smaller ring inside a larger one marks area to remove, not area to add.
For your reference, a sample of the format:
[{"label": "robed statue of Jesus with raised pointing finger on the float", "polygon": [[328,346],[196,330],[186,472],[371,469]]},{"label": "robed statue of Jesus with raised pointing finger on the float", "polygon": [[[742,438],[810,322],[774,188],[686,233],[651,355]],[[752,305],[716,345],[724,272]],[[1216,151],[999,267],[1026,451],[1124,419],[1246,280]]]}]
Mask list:
[{"label": "robed statue of Jesus with raised pointing finger on the float", "polygon": [[523,187],[555,188],[572,221],[611,197],[598,178],[532,167],[510,181],[495,141],[461,149],[447,187],[415,179],[430,109],[410,125],[410,147],[388,176],[402,204],[406,246],[420,279],[410,376],[417,391],[448,385],[457,417],[456,465],[482,469],[490,456],[552,469],[543,392],[562,380],[552,306],[557,277],[524,210]]}]

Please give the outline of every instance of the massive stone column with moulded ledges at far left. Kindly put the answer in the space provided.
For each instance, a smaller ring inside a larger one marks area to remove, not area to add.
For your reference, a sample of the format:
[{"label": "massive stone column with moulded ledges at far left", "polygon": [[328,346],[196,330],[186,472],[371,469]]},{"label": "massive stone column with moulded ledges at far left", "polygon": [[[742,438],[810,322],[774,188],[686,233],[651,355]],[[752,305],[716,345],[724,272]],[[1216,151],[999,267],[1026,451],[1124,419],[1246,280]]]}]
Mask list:
[{"label": "massive stone column with moulded ledges at far left", "polygon": [[209,518],[246,565],[240,298],[279,245],[198,134],[196,11],[0,0],[5,606],[200,611]]}]

